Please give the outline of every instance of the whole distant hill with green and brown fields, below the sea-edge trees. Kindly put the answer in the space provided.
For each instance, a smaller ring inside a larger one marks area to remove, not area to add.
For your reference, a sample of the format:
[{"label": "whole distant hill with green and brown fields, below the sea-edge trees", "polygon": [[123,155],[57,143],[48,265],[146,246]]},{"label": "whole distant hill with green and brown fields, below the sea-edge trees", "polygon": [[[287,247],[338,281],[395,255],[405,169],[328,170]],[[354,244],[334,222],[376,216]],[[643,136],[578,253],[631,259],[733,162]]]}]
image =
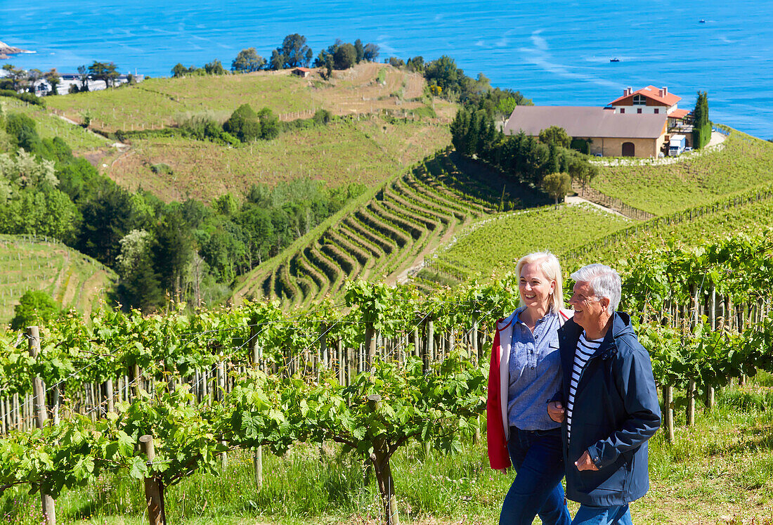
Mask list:
[{"label": "whole distant hill with green and brown fields, below the sea-edge trees", "polygon": [[167,202],[188,197],[209,202],[227,192],[240,195],[258,182],[273,186],[310,177],[332,186],[352,180],[382,183],[451,140],[447,124],[456,105],[427,96],[425,87],[419,73],[361,63],[334,72],[330,81],[318,71],[301,79],[289,70],[159,78],[48,97],[46,103],[49,111],[72,121],[90,118],[90,127],[104,134],[158,131],[194,116],[222,123],[241,104],[268,107],[281,121],[310,118],[319,109],[339,117],[237,147],[148,135],[128,138],[129,148],[86,154],[100,172],[128,189],[145,189]]}]

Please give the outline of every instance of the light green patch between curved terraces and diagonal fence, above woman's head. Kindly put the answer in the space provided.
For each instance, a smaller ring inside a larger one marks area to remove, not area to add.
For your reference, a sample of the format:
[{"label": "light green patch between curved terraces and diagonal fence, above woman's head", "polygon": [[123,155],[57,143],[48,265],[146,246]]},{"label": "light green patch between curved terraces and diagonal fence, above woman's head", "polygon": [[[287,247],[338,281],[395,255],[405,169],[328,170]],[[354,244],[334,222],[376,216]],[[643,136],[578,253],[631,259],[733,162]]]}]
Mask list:
[{"label": "light green patch between curved terraces and diagonal fence, above woman's head", "polygon": [[465,272],[466,278],[489,278],[515,270],[523,254],[550,250],[560,255],[629,224],[623,217],[588,205],[508,213],[472,224],[449,247],[438,251],[437,263],[430,269],[445,271],[450,265]]}]

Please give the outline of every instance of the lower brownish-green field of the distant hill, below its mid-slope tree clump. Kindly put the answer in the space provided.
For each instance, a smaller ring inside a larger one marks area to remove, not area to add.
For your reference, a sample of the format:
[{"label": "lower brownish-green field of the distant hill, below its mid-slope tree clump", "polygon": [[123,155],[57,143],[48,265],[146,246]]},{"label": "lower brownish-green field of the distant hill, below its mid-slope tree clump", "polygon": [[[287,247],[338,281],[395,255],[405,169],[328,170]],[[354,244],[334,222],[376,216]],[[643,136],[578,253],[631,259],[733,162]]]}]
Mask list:
[{"label": "lower brownish-green field of the distant hill, below its mid-slope tree clump", "polygon": [[[230,148],[184,138],[132,141],[128,152],[104,159],[102,171],[128,189],[141,187],[165,200],[209,201],[240,194],[255,183],[310,177],[331,186],[378,184],[451,141],[448,127],[426,122],[390,124],[378,116],[339,121]],[[172,174],[154,173],[165,163]]]}]

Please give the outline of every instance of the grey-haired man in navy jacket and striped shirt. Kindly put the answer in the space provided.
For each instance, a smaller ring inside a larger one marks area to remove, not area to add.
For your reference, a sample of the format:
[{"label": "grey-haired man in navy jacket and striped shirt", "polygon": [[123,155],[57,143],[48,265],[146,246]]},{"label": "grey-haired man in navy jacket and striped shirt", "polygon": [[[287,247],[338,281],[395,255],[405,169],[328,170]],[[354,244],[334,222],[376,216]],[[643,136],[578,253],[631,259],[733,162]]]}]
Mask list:
[{"label": "grey-haired man in navy jacket and striped shirt", "polygon": [[571,274],[574,317],[559,330],[564,381],[547,407],[561,422],[573,525],[632,525],[628,504],[649,489],[647,440],[660,426],[649,354],[631,318],[616,312],[617,271],[590,264]]}]

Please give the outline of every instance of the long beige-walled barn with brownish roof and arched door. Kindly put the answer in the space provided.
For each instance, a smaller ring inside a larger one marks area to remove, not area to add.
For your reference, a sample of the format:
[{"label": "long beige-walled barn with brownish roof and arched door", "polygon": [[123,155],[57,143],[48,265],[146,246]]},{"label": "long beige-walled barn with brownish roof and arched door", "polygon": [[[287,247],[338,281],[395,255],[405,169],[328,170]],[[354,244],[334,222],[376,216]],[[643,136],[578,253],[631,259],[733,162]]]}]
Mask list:
[{"label": "long beige-walled barn with brownish roof and arched door", "polygon": [[516,106],[504,132],[537,137],[543,129],[558,126],[572,138],[590,141],[591,155],[657,158],[666,141],[667,117],[666,111],[637,114],[618,113],[611,107]]}]

